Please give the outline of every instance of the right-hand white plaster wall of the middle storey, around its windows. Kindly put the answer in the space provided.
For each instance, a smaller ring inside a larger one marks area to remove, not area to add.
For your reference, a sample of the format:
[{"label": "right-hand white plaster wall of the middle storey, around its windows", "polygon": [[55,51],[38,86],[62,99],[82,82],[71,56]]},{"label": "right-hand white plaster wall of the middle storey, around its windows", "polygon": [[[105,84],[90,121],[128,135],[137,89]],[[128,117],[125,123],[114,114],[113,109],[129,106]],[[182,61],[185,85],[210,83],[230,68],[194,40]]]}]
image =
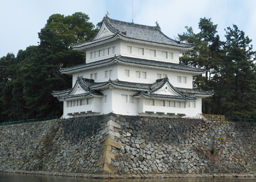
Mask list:
[{"label": "right-hand white plaster wall of the middle storey, around its windows", "polygon": [[[130,77],[125,76],[125,70],[130,70]],[[146,72],[146,79],[136,78],[136,71]],[[152,84],[157,80],[157,74],[163,74],[168,76],[170,83],[174,87],[180,88],[193,88],[193,77],[192,74],[182,73],[178,71],[167,71],[167,70],[159,70],[153,68],[143,68],[139,66],[128,66],[128,65],[118,65],[118,73],[117,77],[119,80],[134,82],[134,83],[146,83]],[[187,77],[187,83],[178,83],[177,76]]]}]

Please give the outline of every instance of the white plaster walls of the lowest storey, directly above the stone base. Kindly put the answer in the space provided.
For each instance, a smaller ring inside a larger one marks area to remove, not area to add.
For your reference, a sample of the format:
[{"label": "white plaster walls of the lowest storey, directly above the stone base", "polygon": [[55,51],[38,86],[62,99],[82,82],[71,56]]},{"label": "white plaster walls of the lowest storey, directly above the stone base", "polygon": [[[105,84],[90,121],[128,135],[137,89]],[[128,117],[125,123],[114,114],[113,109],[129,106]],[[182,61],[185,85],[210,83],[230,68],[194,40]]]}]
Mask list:
[{"label": "white plaster walls of the lowest storey, directly above the stone base", "polygon": [[[189,107],[189,102],[186,102],[185,108],[181,108],[145,105],[145,98],[133,98],[134,103],[130,103],[129,95],[137,93],[137,91],[132,90],[104,89],[102,93],[107,95],[106,103],[104,97],[94,98],[92,104],[83,106],[66,107],[66,101],[64,101],[64,118],[108,114],[110,112],[130,116],[141,115],[159,117],[176,117],[175,115],[185,114],[186,116],[184,117],[198,118],[200,116],[199,114],[202,113],[202,98],[200,97],[197,97],[195,101],[195,108]],[[128,102],[122,102],[121,95],[128,95]],[[75,115],[68,116],[67,113],[74,113]]]}]

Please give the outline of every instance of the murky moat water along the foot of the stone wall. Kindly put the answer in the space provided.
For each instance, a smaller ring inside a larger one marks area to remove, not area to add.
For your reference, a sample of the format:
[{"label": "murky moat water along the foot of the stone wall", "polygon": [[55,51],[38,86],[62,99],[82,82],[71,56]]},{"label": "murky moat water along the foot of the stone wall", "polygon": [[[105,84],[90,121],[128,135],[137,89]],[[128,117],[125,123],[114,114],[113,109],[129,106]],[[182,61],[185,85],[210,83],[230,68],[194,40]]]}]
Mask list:
[{"label": "murky moat water along the foot of the stone wall", "polygon": [[0,182],[255,182],[256,178],[90,179],[0,172]]}]

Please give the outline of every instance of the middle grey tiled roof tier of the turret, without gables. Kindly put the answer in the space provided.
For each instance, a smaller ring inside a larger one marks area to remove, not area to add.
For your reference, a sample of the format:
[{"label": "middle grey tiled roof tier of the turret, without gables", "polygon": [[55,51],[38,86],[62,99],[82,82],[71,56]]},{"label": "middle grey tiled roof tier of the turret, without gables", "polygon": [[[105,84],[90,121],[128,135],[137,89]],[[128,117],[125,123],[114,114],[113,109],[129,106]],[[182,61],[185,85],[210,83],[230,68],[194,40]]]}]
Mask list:
[{"label": "middle grey tiled roof tier of the turret, without gables", "polygon": [[197,72],[197,73],[203,73],[205,72],[205,69],[202,68],[194,68],[190,66],[186,66],[183,64],[178,63],[172,63],[172,62],[162,62],[162,61],[154,61],[154,60],[148,60],[148,59],[140,59],[140,58],[134,58],[134,57],[125,57],[119,55],[118,57],[112,57],[108,59],[103,59],[100,61],[85,63],[79,66],[74,66],[71,68],[61,68],[60,71],[62,73],[67,73],[70,71],[76,71],[80,69],[86,69],[93,66],[101,66],[103,64],[112,63],[114,60],[119,61],[120,63],[130,63],[135,65],[142,65],[142,66],[153,66],[153,67],[160,67],[160,68],[166,68],[166,69],[173,69],[173,70],[182,70],[182,71],[190,71],[190,72]]}]

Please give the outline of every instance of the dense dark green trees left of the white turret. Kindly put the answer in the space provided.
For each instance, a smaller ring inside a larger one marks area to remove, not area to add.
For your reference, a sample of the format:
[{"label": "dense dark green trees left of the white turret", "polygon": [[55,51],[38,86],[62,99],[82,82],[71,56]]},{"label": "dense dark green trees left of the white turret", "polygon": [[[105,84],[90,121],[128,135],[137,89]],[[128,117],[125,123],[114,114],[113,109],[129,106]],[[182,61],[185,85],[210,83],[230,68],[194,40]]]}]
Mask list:
[{"label": "dense dark green trees left of the white turret", "polygon": [[89,19],[81,12],[53,14],[38,33],[38,46],[0,59],[1,122],[62,115],[63,103],[51,93],[71,87],[71,76],[60,74],[59,67],[85,63],[85,53],[70,45],[88,41],[98,31]]}]

